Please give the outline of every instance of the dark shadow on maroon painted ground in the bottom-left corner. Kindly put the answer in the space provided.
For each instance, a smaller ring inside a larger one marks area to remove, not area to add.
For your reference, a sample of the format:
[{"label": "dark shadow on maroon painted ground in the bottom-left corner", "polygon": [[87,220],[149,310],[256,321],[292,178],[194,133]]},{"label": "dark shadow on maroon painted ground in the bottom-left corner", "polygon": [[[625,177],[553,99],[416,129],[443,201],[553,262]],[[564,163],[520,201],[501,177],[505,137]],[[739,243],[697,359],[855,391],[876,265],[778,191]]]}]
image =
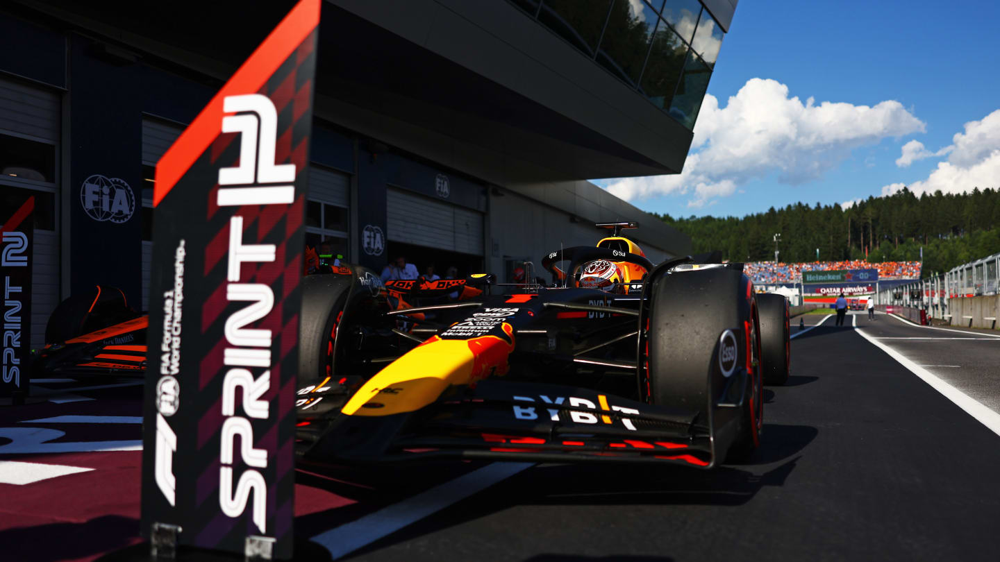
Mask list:
[{"label": "dark shadow on maroon painted ground in the bottom-left corner", "polygon": [[0,531],[2,560],[77,560],[127,546],[138,538],[139,521],[104,515],[83,523],[50,523]]}]

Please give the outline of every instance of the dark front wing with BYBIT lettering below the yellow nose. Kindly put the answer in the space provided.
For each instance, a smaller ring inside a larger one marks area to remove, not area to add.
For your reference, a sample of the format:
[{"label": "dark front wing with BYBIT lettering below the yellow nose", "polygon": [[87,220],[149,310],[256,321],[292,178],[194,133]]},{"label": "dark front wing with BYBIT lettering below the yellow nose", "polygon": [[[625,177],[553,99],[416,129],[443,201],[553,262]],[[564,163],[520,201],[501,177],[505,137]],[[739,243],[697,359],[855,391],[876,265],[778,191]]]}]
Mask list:
[{"label": "dark front wing with BYBIT lettering below the yellow nose", "polygon": [[709,424],[694,412],[497,379],[455,387],[416,412],[305,419],[298,436],[304,460],[324,463],[463,458],[715,465]]}]

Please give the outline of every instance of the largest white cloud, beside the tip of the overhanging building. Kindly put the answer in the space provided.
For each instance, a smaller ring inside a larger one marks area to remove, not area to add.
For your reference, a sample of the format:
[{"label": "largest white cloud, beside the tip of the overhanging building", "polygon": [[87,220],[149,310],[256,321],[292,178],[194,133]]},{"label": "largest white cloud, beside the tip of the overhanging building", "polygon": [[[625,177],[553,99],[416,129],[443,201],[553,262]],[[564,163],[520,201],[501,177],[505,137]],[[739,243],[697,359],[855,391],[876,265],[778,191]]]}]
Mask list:
[{"label": "largest white cloud, beside the tip of the overhanging building", "polygon": [[854,148],[924,129],[898,101],[872,107],[816,105],[813,98],[803,103],[789,97],[784,84],[754,78],[726,107],[719,107],[715,96],[705,96],[682,173],[621,178],[608,191],[627,200],[693,192],[688,205],[700,207],[773,173],[793,185],[817,179]]}]

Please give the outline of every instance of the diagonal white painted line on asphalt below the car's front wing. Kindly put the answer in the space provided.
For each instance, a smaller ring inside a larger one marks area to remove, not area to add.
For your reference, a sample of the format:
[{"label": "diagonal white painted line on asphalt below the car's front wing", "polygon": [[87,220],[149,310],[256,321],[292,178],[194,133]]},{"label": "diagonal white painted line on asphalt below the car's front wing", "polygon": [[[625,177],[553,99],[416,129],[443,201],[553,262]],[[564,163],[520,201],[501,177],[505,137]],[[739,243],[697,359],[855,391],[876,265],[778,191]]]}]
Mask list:
[{"label": "diagonal white painted line on asphalt below the car's front wing", "polygon": [[532,466],[529,462],[490,463],[309,540],[322,545],[336,560]]}]

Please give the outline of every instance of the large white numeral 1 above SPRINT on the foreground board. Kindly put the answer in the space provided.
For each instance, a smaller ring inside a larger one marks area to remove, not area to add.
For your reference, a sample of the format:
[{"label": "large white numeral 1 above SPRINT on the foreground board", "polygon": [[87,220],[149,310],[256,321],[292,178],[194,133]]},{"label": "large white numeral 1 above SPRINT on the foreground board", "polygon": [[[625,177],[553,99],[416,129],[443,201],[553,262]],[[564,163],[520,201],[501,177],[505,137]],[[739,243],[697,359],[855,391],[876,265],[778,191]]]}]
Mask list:
[{"label": "large white numeral 1 above SPRINT on the foreground board", "polygon": [[[223,133],[240,133],[240,165],[219,169],[219,206],[291,204],[295,201],[295,164],[274,163],[278,112],[261,94],[227,96],[223,102]],[[259,155],[259,156],[258,156]]]}]

